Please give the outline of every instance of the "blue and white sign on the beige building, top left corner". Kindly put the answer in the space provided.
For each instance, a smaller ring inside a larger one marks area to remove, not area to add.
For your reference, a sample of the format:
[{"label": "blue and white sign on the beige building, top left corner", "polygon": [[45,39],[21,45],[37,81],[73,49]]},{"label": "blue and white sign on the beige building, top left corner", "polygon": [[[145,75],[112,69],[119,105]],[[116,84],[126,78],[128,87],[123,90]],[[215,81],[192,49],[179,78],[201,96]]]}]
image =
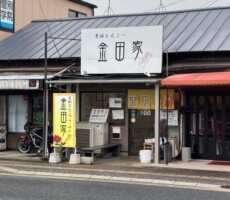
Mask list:
[{"label": "blue and white sign on the beige building, top left corner", "polygon": [[14,31],[14,0],[0,0],[0,28]]}]

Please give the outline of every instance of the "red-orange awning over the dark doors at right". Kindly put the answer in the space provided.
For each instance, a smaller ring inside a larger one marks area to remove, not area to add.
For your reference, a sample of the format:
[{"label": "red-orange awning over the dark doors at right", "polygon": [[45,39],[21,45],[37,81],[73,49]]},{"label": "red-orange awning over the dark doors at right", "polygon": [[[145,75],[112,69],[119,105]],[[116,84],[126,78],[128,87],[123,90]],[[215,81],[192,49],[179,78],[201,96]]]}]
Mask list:
[{"label": "red-orange awning over the dark doors at right", "polygon": [[230,85],[230,72],[175,74],[161,81],[162,86]]}]

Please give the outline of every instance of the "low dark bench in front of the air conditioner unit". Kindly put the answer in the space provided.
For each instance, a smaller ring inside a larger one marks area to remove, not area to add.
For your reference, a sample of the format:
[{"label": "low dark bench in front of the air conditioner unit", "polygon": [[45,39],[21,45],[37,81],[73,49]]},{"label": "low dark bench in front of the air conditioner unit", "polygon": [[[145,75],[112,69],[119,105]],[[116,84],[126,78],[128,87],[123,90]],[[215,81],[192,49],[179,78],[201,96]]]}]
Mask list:
[{"label": "low dark bench in front of the air conditioner unit", "polygon": [[105,155],[105,151],[112,152],[113,155],[118,156],[120,154],[121,144],[104,144],[94,147],[82,148],[83,155],[90,154],[91,157],[94,157],[96,150],[101,150],[101,156]]}]

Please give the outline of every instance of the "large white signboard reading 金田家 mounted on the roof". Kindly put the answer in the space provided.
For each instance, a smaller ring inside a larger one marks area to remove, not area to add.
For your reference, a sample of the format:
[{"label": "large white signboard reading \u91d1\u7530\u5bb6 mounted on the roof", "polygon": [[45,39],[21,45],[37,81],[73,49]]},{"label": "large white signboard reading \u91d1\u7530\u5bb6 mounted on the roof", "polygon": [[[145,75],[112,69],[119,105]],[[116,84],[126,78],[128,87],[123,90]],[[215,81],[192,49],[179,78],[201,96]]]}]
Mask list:
[{"label": "large white signboard reading \u91d1\u7530\u5bb6 mounted on the roof", "polygon": [[81,74],[161,73],[163,26],[82,29]]}]

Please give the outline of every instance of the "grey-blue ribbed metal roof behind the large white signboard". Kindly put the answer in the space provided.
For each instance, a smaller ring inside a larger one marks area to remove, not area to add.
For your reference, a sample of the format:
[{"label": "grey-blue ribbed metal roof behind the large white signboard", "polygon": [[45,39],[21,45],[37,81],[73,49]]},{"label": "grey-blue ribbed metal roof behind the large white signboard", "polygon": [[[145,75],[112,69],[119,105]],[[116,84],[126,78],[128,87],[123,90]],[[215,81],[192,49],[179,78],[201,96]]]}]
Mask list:
[{"label": "grey-blue ribbed metal roof behind the large white signboard", "polygon": [[32,21],[0,43],[0,60],[43,59],[45,32],[48,32],[48,36],[56,37],[48,39],[48,58],[79,58],[81,29],[153,25],[164,26],[164,52],[230,50],[228,7]]}]

